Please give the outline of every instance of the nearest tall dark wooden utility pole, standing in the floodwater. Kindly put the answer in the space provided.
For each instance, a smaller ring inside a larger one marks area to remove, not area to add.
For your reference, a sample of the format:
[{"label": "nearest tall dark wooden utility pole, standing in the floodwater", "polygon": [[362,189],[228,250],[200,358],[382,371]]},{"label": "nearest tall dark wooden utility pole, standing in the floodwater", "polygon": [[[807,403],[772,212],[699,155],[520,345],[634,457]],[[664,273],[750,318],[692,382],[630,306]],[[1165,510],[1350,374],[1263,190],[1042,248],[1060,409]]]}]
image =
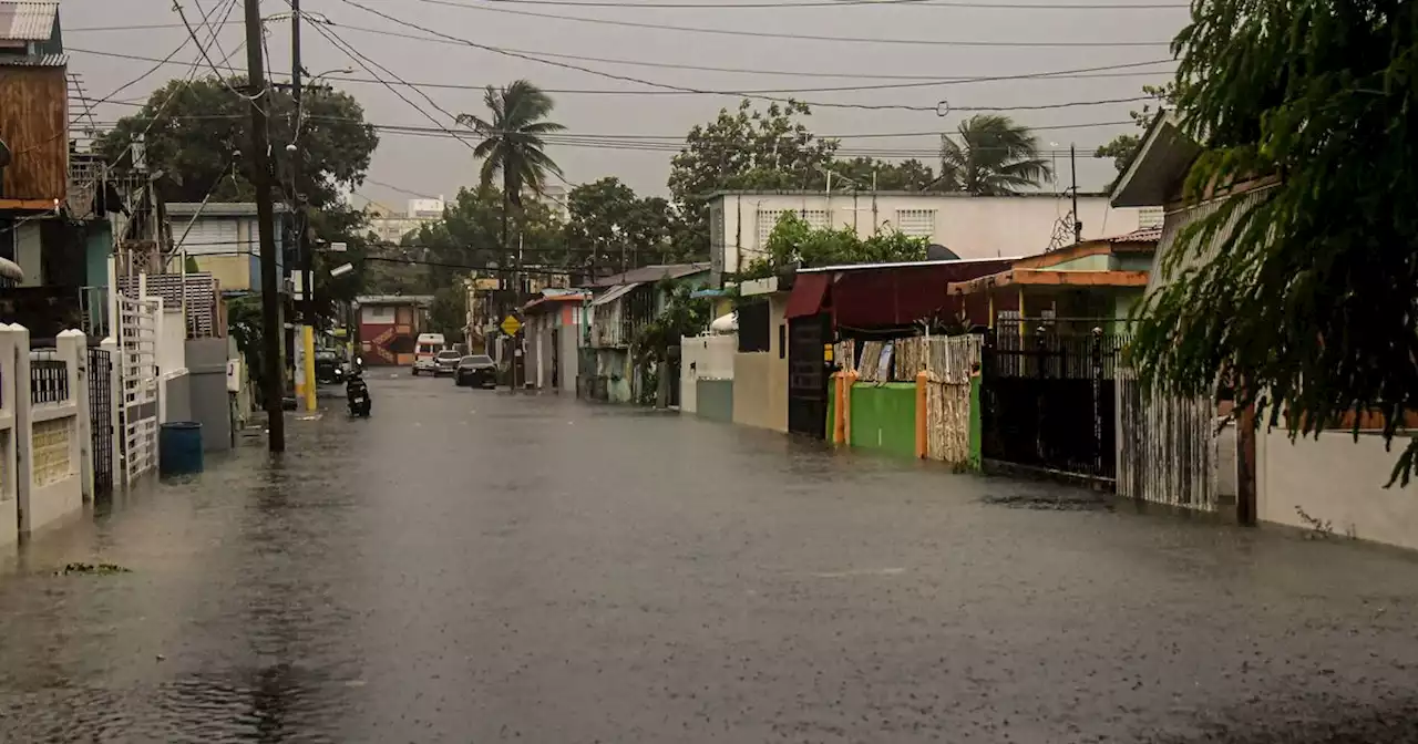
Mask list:
[{"label": "nearest tall dark wooden utility pole, standing in the floodwater", "polygon": [[261,60],[261,0],[245,0],[247,9],[247,82],[251,96],[251,157],[255,163],[257,230],[261,238],[261,346],[265,367],[267,427],[271,452],[285,452],[285,411],[281,405],[281,283],[275,272],[275,214],[271,204],[271,143],[267,137],[267,112],[271,101]]}]

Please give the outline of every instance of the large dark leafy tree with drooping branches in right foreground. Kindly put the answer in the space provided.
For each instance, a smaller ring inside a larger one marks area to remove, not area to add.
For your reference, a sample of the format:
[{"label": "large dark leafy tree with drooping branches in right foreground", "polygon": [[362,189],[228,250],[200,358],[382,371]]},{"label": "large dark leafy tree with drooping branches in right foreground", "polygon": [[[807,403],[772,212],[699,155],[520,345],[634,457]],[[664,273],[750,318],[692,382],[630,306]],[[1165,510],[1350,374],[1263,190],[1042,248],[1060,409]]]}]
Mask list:
[{"label": "large dark leafy tree with drooping branches in right foreground", "polygon": [[[1133,344],[1147,381],[1210,394],[1225,371],[1236,402],[1272,427],[1283,417],[1290,436],[1377,412],[1391,441],[1418,408],[1414,28],[1414,3],[1193,6],[1177,103],[1205,150],[1185,196],[1273,187],[1177,237]],[[1415,452],[1409,441],[1395,480]]]}]

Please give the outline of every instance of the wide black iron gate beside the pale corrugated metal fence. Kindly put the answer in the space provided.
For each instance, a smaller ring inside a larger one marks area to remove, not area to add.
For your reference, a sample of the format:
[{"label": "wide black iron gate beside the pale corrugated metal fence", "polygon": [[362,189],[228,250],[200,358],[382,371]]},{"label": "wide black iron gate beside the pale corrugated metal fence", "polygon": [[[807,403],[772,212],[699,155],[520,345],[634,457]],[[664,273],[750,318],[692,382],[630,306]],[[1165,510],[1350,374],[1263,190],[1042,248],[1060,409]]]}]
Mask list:
[{"label": "wide black iron gate beside the pale corrugated metal fence", "polygon": [[1116,367],[1102,332],[993,332],[981,357],[981,455],[1096,480],[1117,475]]}]

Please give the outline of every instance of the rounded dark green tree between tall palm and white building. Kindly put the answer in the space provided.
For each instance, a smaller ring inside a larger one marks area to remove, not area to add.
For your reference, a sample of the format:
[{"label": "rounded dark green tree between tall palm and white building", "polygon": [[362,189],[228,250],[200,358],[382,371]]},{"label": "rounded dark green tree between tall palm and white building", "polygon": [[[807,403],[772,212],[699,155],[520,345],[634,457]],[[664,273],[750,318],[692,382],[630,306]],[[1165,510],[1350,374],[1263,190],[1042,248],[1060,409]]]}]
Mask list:
[{"label": "rounded dark green tree between tall palm and white building", "polygon": [[614,274],[674,257],[675,215],[669,203],[659,197],[640,198],[614,176],[573,188],[567,208],[570,262],[587,274]]}]

